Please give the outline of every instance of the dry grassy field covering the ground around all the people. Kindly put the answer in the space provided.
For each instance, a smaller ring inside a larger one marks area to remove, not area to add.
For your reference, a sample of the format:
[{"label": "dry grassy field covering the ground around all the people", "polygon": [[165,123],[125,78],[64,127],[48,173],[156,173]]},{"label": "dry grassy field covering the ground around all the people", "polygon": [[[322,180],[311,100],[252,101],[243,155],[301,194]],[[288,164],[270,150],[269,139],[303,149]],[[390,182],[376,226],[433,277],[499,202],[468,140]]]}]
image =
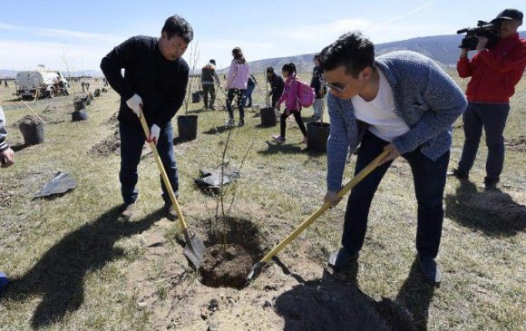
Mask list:
[{"label": "dry grassy field covering the ground around all the people", "polygon": [[[450,73],[464,89],[467,82]],[[261,75],[258,82],[255,103],[263,105]],[[101,86],[92,82],[92,88]],[[403,160],[395,161],[376,192],[365,247],[352,273],[333,275],[326,268],[326,258],[339,247],[346,206],[341,203],[245,289],[204,287],[182,256],[179,225],[161,216],[151,154],[140,165],[136,215],[129,222],[117,218],[119,155],[90,150],[115,131],[109,120],[118,94],[110,90],[94,99],[87,122],[71,122],[72,97],[31,102],[50,124],[43,144],[25,147],[15,122],[31,112],[13,100],[13,92],[13,85],[0,87],[8,141],[16,149],[15,165],[0,170],[0,270],[12,279],[0,298],[2,330],[396,329],[407,326],[404,317],[416,329],[526,329],[525,80],[511,101],[502,192],[479,187],[487,155],[483,142],[472,181],[447,181],[438,288],[423,284],[414,263],[416,203]],[[224,102],[220,93],[218,99],[217,105]],[[198,139],[179,142],[175,153],[183,213],[189,227],[207,238],[214,199],[193,179],[200,168],[219,165],[228,116],[201,107],[190,103],[189,112],[199,115]],[[303,112],[306,120],[311,114]],[[287,122],[282,146],[270,139],[278,126],[259,123],[258,112],[248,110],[246,125],[232,131],[227,158],[239,167],[254,142],[236,184],[232,216],[258,229],[260,248],[267,251],[321,205],[326,155],[304,150],[294,121]],[[462,151],[461,125],[455,123],[450,168]],[[355,161],[347,165],[346,180]],[[71,174],[77,188],[32,199],[59,170]]]}]

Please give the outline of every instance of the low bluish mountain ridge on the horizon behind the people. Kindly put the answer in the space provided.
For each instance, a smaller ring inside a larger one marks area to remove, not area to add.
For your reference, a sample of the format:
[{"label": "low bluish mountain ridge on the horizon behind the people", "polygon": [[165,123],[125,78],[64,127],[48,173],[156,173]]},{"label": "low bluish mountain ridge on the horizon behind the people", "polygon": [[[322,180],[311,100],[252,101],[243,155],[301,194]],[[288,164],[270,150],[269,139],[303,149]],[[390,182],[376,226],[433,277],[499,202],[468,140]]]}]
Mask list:
[{"label": "low bluish mountain ridge on the horizon behind the people", "polygon": [[[521,35],[521,38],[526,38],[526,31],[522,31],[519,34]],[[433,35],[392,43],[375,44],[375,53],[380,55],[395,51],[414,51],[432,58],[443,66],[452,66],[455,65],[458,60],[460,54],[458,45],[461,43],[464,35],[465,34]],[[313,54],[277,57],[273,59],[253,61],[248,63],[248,65],[250,67],[250,72],[262,73],[268,66],[280,70],[283,64],[292,62],[296,64],[297,70],[301,73],[312,70],[312,57]],[[228,68],[219,72],[226,73],[227,71]]]}]

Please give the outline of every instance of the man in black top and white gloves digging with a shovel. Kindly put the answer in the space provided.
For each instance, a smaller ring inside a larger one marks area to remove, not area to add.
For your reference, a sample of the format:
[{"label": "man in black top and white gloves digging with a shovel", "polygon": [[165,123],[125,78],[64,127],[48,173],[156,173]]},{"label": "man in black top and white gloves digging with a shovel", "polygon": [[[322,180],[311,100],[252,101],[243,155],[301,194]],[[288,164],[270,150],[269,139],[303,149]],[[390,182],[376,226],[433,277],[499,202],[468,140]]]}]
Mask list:
[{"label": "man in black top and white gloves digging with a shovel", "polygon": [[[154,141],[176,196],[179,190],[177,166],[173,155],[171,119],[179,110],[187,88],[189,66],[182,59],[193,39],[190,24],[179,15],[168,17],[161,38],[134,36],[113,48],[102,58],[101,69],[108,83],[121,95],[119,131],[121,133],[122,217],[129,219],[138,197],[135,187],[137,167],[144,141]],[[124,69],[124,76],[121,70]],[[139,116],[141,110],[151,127],[145,137]],[[170,219],[177,214],[161,180],[162,198]]]}]

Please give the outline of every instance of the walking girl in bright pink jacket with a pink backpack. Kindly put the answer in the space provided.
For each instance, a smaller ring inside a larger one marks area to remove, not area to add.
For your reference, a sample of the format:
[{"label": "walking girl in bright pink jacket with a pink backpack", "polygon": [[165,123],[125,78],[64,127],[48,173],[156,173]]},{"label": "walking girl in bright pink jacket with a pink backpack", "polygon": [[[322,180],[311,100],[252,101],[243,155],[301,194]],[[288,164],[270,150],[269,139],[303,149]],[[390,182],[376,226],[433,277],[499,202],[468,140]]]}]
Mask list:
[{"label": "walking girl in bright pink jacket with a pink backpack", "polygon": [[283,75],[283,78],[285,78],[285,89],[283,91],[283,94],[281,94],[278,103],[276,104],[276,108],[279,112],[281,103],[283,102],[285,102],[286,108],[285,111],[281,114],[281,119],[279,123],[281,134],[274,134],[272,135],[272,138],[279,144],[285,142],[287,117],[292,113],[294,115],[294,119],[297,122],[297,126],[299,126],[299,130],[301,130],[301,133],[303,133],[303,141],[301,141],[301,143],[307,143],[307,129],[305,128],[305,124],[301,119],[300,113],[301,103],[299,102],[298,98],[300,83],[296,80],[296,65],[294,63],[287,63],[283,65],[283,68],[281,69],[281,74]]}]

